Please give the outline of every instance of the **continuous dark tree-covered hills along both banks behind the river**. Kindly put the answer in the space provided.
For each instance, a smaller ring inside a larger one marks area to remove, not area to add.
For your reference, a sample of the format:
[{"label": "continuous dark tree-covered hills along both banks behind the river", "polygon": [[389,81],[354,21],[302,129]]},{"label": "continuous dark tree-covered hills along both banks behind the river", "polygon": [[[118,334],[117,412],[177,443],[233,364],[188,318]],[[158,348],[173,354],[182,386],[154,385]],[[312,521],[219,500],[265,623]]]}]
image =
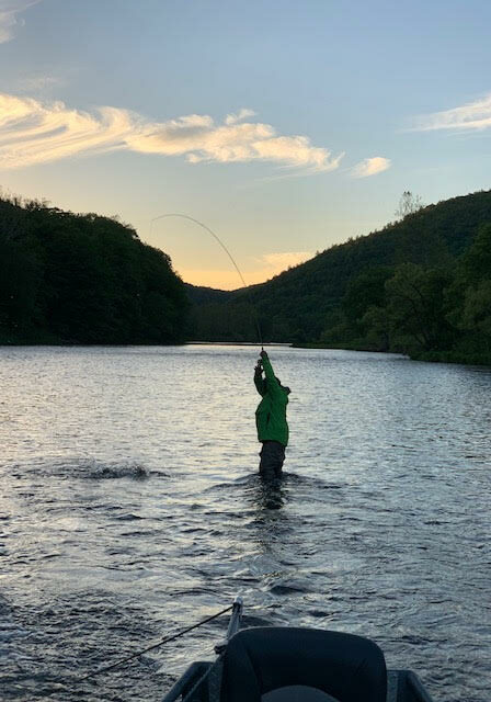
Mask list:
[{"label": "continuous dark tree-covered hills along both banks behind the river", "polygon": [[184,285],[116,218],[0,199],[0,343],[260,337],[491,363],[491,191],[413,207],[233,292]]}]

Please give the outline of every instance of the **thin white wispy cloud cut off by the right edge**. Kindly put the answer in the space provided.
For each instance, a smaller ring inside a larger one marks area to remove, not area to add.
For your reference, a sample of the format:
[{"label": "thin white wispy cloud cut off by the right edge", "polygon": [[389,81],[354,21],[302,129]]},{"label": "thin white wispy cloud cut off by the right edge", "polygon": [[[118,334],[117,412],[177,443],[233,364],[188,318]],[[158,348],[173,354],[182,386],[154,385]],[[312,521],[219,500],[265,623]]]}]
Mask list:
[{"label": "thin white wispy cloud cut off by the right edge", "polygon": [[421,115],[414,120],[413,132],[437,129],[482,131],[491,127],[491,93],[461,107]]}]

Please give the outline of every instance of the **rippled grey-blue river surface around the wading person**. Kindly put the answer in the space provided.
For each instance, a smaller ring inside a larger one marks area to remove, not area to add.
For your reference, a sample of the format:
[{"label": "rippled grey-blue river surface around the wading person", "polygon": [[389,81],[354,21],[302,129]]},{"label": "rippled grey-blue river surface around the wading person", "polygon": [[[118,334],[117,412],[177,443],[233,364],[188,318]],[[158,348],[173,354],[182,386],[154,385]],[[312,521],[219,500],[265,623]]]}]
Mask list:
[{"label": "rippled grey-blue river surface around the wading person", "polygon": [[256,475],[252,347],[0,349],[0,699],[161,700],[227,607],[374,638],[435,702],[491,699],[491,370],[270,349],[292,388]]}]

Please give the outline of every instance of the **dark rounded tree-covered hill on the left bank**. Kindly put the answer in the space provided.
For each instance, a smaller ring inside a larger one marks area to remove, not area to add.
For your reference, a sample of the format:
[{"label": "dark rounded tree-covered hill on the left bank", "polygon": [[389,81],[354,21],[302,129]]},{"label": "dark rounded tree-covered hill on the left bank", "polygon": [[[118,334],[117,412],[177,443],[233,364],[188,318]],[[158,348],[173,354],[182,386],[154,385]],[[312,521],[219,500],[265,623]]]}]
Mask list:
[{"label": "dark rounded tree-covered hill on the left bank", "polygon": [[0,199],[0,343],[176,343],[190,303],[116,218]]}]

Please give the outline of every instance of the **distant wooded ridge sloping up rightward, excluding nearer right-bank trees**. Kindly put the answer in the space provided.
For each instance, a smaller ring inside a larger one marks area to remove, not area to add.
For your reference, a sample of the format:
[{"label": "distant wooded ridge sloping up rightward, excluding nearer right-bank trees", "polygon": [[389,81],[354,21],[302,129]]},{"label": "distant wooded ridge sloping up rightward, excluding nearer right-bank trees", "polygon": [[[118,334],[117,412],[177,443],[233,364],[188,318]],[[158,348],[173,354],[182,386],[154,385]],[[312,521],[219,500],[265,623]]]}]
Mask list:
[{"label": "distant wooded ridge sloping up rightward, excluding nearer right-bank trees", "polygon": [[192,315],[192,336],[252,341],[258,333],[250,319],[258,316],[265,340],[322,342],[341,324],[343,301],[357,276],[374,269],[388,274],[403,264],[449,271],[488,223],[489,190],[429,205],[379,231],[335,245],[265,283],[203,298]]}]

